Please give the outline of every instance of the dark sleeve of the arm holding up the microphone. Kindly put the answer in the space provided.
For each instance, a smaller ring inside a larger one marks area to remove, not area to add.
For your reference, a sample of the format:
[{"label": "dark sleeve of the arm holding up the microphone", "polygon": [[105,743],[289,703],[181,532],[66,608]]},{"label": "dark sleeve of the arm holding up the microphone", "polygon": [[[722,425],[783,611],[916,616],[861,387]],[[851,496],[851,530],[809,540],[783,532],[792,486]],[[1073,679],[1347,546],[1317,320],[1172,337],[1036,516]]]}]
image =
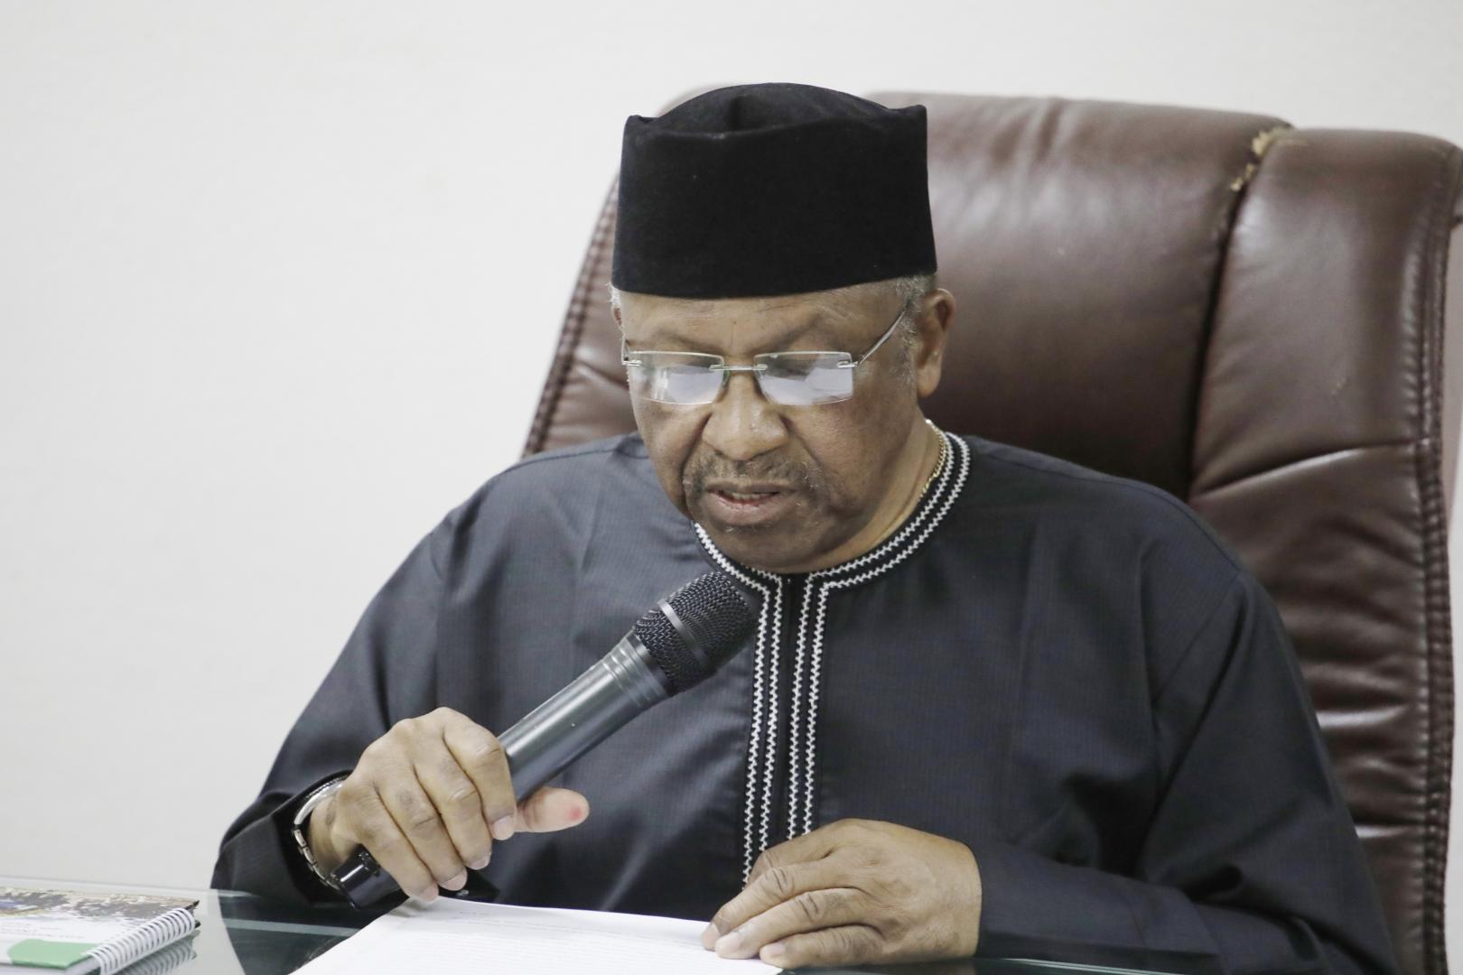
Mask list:
[{"label": "dark sleeve of the arm holding up the microphone", "polygon": [[338,899],[300,855],[294,813],[316,785],[350,772],[396,721],[436,707],[437,553],[448,534],[443,522],[370,602],[291,728],[259,797],[224,833],[211,886],[294,903]]}]

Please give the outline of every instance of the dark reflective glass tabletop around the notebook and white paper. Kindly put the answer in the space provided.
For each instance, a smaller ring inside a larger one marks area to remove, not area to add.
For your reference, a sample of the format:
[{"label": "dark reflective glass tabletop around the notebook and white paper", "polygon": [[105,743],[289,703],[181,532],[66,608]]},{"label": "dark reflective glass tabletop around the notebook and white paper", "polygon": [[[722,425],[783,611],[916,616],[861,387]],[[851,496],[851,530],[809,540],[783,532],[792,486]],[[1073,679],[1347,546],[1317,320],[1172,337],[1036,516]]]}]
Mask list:
[{"label": "dark reflective glass tabletop around the notebook and white paper", "polygon": [[[123,969],[126,975],[288,975],[339,944],[385,911],[351,906],[301,908],[234,890],[187,890],[140,884],[85,883],[35,877],[0,877],[0,887],[142,893],[198,900],[198,933],[177,946]],[[165,957],[164,957],[165,956]],[[7,969],[34,971],[45,969]],[[492,968],[484,966],[490,975]],[[771,972],[772,969],[767,969]],[[1151,975],[1135,969],[1049,962],[960,960],[860,969],[816,969],[824,975],[857,972],[888,975]]]}]

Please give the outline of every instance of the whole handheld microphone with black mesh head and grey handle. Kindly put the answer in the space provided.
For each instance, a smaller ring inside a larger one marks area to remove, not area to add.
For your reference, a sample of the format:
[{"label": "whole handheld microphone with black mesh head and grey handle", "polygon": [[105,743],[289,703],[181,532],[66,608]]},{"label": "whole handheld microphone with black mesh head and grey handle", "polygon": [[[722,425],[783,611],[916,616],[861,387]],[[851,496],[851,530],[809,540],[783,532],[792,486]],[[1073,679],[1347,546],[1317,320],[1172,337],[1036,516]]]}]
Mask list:
[{"label": "whole handheld microphone with black mesh head and grey handle", "polygon": [[[597,664],[497,737],[514,795],[522,801],[635,715],[711,677],[755,626],[724,572],[658,601]],[[364,846],[332,877],[357,908],[401,889]]]}]

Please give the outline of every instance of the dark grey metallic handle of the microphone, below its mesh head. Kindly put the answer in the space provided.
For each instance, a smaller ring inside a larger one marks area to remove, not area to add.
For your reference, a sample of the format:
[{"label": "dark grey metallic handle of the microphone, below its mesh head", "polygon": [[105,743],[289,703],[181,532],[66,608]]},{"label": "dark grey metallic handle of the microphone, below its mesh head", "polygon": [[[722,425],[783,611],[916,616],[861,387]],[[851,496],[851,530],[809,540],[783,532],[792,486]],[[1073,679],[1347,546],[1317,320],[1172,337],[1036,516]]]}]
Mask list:
[{"label": "dark grey metallic handle of the microphone, below its mesh head", "polygon": [[[590,669],[497,737],[514,776],[515,798],[522,801],[533,795],[571,762],[670,693],[650,650],[633,630],[626,633]],[[332,876],[357,908],[401,889],[366,848],[356,851]]]}]

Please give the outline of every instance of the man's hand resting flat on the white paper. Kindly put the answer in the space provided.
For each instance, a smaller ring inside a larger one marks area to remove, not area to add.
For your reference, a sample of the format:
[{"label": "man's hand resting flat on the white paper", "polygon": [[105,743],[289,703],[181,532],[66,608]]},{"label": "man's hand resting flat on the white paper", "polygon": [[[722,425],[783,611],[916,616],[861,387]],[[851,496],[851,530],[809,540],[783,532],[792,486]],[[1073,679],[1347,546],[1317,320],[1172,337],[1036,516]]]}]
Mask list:
[{"label": "man's hand resting flat on the white paper", "polygon": [[778,968],[970,957],[980,871],[970,848],[894,823],[838,820],[765,851],[701,943]]}]

